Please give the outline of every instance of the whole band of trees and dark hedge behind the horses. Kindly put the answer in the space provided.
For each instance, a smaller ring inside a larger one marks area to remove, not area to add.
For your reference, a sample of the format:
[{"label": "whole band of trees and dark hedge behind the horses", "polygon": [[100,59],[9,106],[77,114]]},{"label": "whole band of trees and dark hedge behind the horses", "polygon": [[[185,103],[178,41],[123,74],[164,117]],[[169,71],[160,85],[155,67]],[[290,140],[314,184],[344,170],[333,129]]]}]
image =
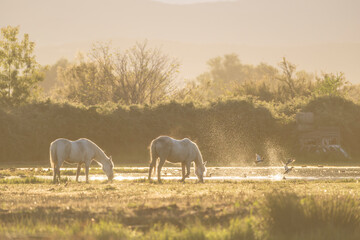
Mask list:
[{"label": "whole band of trees and dark hedge behind the horses", "polygon": [[[74,62],[41,66],[19,27],[0,34],[0,162],[48,163],[56,138],[89,138],[116,163],[144,164],[159,135],[196,141],[213,164],[333,161],[336,152],[301,152],[295,115],[313,112],[315,128],[340,130],[352,161],[360,157],[360,85],[344,73],[242,63],[237,54],[209,59],[208,70],[179,83],[180,63],[147,42],[119,51],[97,43]],[[350,160],[346,160],[350,161]]]}]

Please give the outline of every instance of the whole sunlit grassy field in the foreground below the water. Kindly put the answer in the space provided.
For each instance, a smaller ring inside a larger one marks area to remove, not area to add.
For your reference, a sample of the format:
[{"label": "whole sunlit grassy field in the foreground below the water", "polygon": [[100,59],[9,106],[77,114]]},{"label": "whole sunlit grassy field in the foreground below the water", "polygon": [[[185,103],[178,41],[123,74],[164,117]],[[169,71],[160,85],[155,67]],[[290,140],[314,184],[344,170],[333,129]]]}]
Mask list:
[{"label": "whole sunlit grassy field in the foreground below the water", "polygon": [[0,239],[360,239],[357,181],[0,180]]}]

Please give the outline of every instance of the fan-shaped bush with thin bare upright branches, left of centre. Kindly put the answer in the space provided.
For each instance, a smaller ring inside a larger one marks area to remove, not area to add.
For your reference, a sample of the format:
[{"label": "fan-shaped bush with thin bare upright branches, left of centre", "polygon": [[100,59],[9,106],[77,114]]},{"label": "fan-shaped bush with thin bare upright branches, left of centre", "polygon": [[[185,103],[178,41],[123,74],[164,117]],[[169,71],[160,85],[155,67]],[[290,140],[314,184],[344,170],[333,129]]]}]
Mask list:
[{"label": "fan-shaped bush with thin bare upright branches, left of centre", "polygon": [[180,64],[148,49],[147,42],[137,43],[115,59],[115,99],[126,104],[153,104],[164,100],[174,90],[173,83]]}]

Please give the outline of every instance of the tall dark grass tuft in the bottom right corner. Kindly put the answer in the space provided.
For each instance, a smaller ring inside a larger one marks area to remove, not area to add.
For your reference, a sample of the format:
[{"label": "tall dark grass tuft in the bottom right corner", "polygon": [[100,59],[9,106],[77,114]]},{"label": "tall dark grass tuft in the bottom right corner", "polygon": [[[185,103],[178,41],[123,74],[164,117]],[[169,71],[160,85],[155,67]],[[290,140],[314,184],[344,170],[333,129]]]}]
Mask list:
[{"label": "tall dark grass tuft in the bottom right corner", "polygon": [[[269,233],[314,239],[360,239],[359,203],[350,196],[301,198],[291,192],[266,195],[264,223]],[[316,236],[316,237],[315,237]]]}]

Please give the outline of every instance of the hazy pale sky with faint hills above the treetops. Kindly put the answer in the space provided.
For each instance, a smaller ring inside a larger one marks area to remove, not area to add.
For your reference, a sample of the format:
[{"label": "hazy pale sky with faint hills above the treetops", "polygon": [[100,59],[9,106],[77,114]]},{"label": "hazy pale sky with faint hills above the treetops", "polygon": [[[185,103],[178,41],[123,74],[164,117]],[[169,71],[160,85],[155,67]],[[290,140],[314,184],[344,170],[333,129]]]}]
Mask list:
[{"label": "hazy pale sky with faint hills above the treetops", "polygon": [[29,33],[42,64],[95,41],[126,48],[148,39],[178,57],[187,78],[235,52],[244,63],[286,56],[300,69],[360,82],[358,0],[0,0],[0,24]]}]

